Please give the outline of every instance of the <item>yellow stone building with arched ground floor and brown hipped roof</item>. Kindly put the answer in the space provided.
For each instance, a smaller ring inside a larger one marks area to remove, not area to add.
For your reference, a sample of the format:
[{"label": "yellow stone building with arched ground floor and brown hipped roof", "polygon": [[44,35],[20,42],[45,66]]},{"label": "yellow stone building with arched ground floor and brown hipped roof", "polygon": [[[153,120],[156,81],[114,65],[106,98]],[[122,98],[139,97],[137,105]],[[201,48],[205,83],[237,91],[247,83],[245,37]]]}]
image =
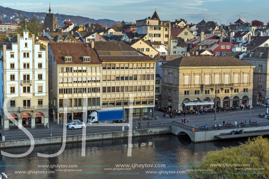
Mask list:
[{"label": "yellow stone building with arched ground floor and brown hipped roof", "polygon": [[253,68],[235,57],[180,57],[163,64],[162,106],[172,109],[252,105]]}]

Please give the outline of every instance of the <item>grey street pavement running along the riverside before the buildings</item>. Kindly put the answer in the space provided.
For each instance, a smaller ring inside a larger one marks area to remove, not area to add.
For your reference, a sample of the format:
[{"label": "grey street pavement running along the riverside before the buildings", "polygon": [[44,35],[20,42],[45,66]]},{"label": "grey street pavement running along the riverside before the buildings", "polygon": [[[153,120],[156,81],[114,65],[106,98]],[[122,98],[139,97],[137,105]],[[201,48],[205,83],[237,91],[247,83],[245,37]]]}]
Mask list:
[{"label": "grey street pavement running along the riverside before the buildings", "polygon": [[[254,105],[253,108],[251,108],[251,110],[247,110],[245,109],[244,111],[240,111],[240,110],[235,110],[235,111],[220,111],[220,112],[216,112],[216,120],[218,121],[214,121],[214,112],[213,113],[207,113],[207,114],[200,114],[199,116],[194,116],[194,115],[186,115],[185,117],[182,116],[176,116],[175,118],[170,118],[170,117],[163,117],[163,113],[155,110],[154,111],[154,117],[156,115],[158,115],[158,117],[160,118],[159,120],[149,120],[149,124],[160,124],[161,122],[166,122],[166,123],[170,123],[173,121],[176,122],[180,122],[181,123],[181,119],[183,118],[186,119],[186,125],[189,125],[191,127],[199,127],[199,126],[204,126],[207,125],[208,127],[213,126],[215,124],[221,124],[223,125],[223,120],[225,120],[225,123],[227,122],[231,122],[232,124],[235,124],[235,121],[238,123],[240,123],[241,121],[243,123],[248,124],[249,123],[249,119],[251,119],[251,122],[255,122],[257,121],[258,123],[261,122],[269,122],[269,120],[267,119],[263,119],[261,117],[258,117],[258,114],[262,113],[265,114],[267,108],[265,108],[265,106],[260,106],[260,105]],[[189,118],[189,123],[187,124],[187,119]],[[138,121],[139,121],[139,117],[138,116],[134,116],[133,117],[133,122],[132,125],[136,126],[138,125]],[[124,121],[125,124],[129,123],[129,120]],[[147,125],[148,121],[147,120],[143,120],[141,121],[141,125]],[[91,125],[91,126],[87,126],[86,129],[102,129],[102,128],[110,128],[110,127],[120,127],[121,123],[116,123],[118,126],[112,126],[113,124],[106,124],[102,125]],[[108,126],[107,126],[108,125]],[[131,125],[131,124],[130,124]],[[36,128],[36,129],[31,129],[31,128],[26,128],[31,134],[41,134],[41,133],[50,133],[52,132],[62,132],[63,131],[63,123],[61,124],[57,124],[57,122],[52,122],[49,121],[49,129],[48,128]],[[51,129],[52,128],[52,129]],[[82,130],[82,129],[75,129],[75,130]],[[70,131],[70,129],[67,128],[67,131]],[[21,130],[21,129],[10,129],[10,130],[5,130],[4,131],[4,135],[5,136],[18,136],[18,135],[25,135],[25,133]]]}]

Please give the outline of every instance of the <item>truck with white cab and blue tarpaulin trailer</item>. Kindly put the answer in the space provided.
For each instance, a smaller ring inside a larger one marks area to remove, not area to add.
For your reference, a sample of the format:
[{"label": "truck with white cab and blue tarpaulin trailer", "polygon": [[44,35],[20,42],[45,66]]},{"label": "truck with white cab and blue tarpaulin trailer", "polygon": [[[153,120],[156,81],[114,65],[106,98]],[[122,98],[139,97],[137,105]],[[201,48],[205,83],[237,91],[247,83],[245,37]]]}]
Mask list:
[{"label": "truck with white cab and blue tarpaulin trailer", "polygon": [[[123,120],[125,120],[125,109],[123,113]],[[122,122],[122,109],[96,110],[88,116],[88,123],[116,122]]]}]

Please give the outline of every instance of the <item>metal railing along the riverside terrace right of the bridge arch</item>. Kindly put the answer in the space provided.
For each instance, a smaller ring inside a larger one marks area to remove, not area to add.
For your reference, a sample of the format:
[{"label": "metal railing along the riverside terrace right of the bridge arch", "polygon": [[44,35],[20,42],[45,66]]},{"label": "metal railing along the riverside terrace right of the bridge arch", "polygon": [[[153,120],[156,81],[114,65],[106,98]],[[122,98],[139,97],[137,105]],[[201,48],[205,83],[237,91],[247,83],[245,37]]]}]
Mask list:
[{"label": "metal railing along the riverside terrace right of the bridge arch", "polygon": [[195,128],[195,132],[204,132],[204,131],[215,131],[215,130],[228,130],[231,129],[244,129],[249,127],[263,127],[269,126],[269,122],[262,122],[262,123],[251,123],[251,124],[237,124],[237,125],[224,125],[224,126],[217,126],[217,127],[198,127]]}]

